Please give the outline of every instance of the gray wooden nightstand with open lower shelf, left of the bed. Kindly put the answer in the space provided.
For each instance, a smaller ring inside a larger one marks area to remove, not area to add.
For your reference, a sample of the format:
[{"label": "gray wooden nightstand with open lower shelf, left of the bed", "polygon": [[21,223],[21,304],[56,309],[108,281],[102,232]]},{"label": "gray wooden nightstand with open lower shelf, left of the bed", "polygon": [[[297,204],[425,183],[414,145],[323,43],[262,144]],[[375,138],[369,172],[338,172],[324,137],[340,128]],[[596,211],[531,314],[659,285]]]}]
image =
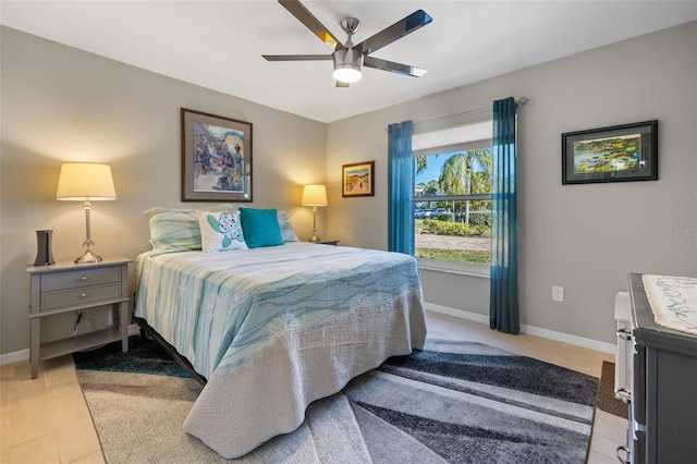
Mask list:
[{"label": "gray wooden nightstand with open lower shelf, left of the bed", "polygon": [[[27,266],[30,281],[29,343],[32,378],[39,362],[121,340],[129,351],[129,262],[126,258],[105,259],[94,265],[58,262]],[[111,305],[113,325],[107,329],[41,343],[41,321],[50,317]]]}]

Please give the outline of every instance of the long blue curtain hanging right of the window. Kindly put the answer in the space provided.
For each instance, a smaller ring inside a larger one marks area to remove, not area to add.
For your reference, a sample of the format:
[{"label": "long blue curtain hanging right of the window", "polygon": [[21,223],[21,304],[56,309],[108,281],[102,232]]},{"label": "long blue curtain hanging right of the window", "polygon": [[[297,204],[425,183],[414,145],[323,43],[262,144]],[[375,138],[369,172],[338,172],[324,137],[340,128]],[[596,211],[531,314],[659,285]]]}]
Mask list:
[{"label": "long blue curtain hanging right of the window", "polygon": [[493,102],[489,327],[518,333],[515,100]]}]

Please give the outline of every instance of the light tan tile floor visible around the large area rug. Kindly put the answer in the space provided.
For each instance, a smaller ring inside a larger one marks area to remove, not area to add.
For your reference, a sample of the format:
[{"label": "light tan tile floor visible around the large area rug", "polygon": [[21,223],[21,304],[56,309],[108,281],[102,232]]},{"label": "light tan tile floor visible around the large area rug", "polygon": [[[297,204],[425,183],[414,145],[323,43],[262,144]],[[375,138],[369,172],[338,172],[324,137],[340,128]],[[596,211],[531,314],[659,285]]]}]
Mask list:
[{"label": "light tan tile floor visible around the large area rug", "polygon": [[[600,376],[606,353],[533,335],[508,335],[481,323],[428,314],[429,333],[473,340]],[[626,420],[596,413],[588,463],[617,463]],[[0,464],[103,463],[99,440],[70,356],[44,362],[30,380],[28,363],[0,368]]]}]

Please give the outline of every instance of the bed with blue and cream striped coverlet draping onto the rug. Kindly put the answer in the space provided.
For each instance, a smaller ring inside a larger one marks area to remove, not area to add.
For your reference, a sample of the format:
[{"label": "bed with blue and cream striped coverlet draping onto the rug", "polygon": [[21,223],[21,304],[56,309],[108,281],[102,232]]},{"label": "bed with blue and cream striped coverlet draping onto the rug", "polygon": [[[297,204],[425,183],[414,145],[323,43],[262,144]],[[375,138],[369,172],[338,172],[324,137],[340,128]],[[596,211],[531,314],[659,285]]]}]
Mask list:
[{"label": "bed with blue and cream striped coverlet draping onto the rug", "polygon": [[149,217],[154,249],[137,258],[135,316],[206,380],[184,430],[224,457],[294,430],[313,401],[426,338],[413,257],[302,243],[273,211],[280,243],[222,253],[171,247],[171,228],[162,246]]}]

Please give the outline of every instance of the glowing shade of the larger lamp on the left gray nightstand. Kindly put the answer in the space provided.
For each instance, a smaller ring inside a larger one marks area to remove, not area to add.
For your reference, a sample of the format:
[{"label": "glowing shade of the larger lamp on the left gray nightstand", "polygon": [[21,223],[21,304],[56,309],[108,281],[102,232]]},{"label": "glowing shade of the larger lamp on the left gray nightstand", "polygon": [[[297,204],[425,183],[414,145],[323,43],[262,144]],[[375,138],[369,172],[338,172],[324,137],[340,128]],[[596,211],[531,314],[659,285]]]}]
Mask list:
[{"label": "glowing shade of the larger lamp on the left gray nightstand", "polygon": [[56,199],[115,199],[111,168],[94,162],[66,162],[61,166]]}]

